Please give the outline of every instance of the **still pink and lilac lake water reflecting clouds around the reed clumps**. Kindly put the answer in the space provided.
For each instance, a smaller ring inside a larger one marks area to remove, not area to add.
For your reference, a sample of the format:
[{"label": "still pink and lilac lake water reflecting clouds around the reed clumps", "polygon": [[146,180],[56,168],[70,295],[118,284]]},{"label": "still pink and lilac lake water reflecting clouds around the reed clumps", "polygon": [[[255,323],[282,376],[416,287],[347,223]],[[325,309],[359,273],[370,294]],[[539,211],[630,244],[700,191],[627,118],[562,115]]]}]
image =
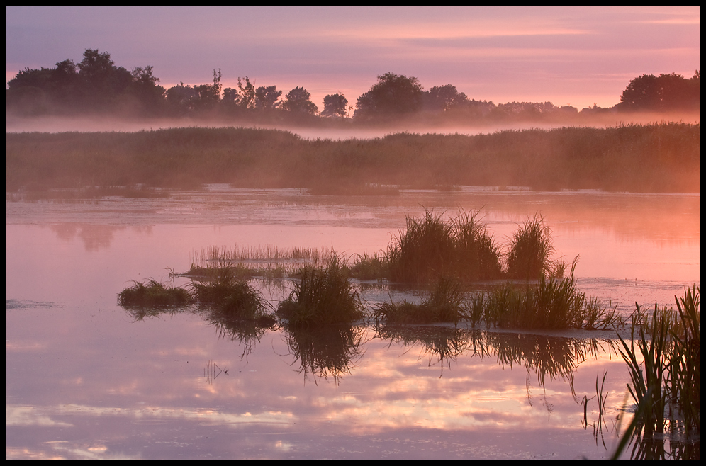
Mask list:
[{"label": "still pink and lilac lake water reflecting clouds around the reed clumps", "polygon": [[[6,200],[6,458],[606,458],[628,380],[615,332],[354,326],[338,348],[336,336],[243,331],[198,309],[141,316],[116,297],[132,280],[167,283],[169,269],[186,271],[210,246],[374,254],[405,215],[482,208],[500,244],[539,212],[556,256],[580,255],[578,287],[627,315],[636,301],[673,305],[700,286],[700,204],[680,194],[228,186]],[[291,288],[254,285],[275,305]],[[370,283],[362,296],[374,307],[410,294]],[[601,435],[595,399],[588,426],[581,400],[606,370]]]}]

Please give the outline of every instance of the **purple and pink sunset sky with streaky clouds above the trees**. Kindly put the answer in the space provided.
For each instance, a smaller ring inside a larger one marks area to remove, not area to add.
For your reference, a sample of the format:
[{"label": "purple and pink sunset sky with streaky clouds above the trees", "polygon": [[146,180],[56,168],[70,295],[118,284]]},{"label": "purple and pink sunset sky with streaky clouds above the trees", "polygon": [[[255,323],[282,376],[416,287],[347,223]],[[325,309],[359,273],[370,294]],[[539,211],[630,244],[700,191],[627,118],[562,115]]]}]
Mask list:
[{"label": "purple and pink sunset sky with streaky clouds above the trees", "polygon": [[5,79],[80,62],[152,65],[159,84],[224,87],[238,76],[319,108],[349,105],[392,72],[424,89],[453,84],[476,100],[613,106],[641,74],[701,69],[700,6],[295,7],[6,6]]}]

